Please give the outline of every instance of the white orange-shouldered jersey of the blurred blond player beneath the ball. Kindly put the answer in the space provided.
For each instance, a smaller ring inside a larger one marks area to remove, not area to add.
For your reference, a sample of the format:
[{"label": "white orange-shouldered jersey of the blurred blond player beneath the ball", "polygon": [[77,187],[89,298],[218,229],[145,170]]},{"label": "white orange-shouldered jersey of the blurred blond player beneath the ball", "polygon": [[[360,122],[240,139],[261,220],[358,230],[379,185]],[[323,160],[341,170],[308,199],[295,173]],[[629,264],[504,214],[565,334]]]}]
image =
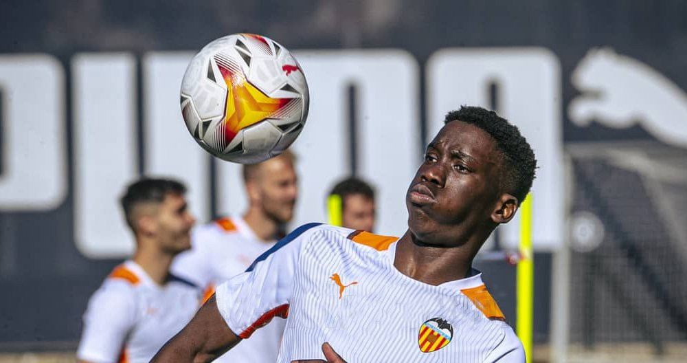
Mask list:
[{"label": "white orange-shouldered jersey of the blurred blond player beneath the ball", "polygon": [[[205,298],[209,298],[214,287],[245,272],[275,243],[259,239],[240,217],[218,219],[193,230],[192,248],[174,259],[172,272],[207,287]],[[273,322],[215,362],[276,362],[285,325],[282,319]]]}]

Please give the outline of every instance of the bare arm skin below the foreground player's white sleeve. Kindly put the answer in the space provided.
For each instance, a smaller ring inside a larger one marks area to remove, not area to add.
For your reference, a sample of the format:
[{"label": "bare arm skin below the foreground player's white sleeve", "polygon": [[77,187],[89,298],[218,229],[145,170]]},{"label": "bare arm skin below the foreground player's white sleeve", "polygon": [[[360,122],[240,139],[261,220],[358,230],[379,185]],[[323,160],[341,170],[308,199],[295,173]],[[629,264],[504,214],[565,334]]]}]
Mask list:
[{"label": "bare arm skin below the foreground player's white sleeve", "polygon": [[150,362],[211,362],[240,340],[227,326],[212,296]]}]

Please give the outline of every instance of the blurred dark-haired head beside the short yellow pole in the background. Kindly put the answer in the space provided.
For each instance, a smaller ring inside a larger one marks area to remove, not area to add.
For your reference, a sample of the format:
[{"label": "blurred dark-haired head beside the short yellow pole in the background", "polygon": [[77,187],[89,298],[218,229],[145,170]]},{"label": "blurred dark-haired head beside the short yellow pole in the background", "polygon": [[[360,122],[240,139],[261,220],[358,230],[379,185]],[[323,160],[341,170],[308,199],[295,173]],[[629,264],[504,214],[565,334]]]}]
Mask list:
[{"label": "blurred dark-haired head beside the short yellow pole in the background", "polygon": [[341,197],[341,225],[353,230],[374,229],[374,190],[357,177],[337,183],[329,195]]}]

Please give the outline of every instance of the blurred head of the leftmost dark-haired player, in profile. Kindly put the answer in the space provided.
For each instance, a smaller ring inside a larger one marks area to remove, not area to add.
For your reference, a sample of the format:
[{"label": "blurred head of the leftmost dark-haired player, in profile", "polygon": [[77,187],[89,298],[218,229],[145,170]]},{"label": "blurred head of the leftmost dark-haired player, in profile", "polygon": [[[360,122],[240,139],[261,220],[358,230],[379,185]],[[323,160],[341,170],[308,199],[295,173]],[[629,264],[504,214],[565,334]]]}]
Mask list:
[{"label": "blurred head of the leftmost dark-haired player, in profile", "polygon": [[126,188],[120,201],[138,243],[150,241],[171,254],[190,248],[195,219],[185,192],[181,182],[170,179],[139,179]]}]

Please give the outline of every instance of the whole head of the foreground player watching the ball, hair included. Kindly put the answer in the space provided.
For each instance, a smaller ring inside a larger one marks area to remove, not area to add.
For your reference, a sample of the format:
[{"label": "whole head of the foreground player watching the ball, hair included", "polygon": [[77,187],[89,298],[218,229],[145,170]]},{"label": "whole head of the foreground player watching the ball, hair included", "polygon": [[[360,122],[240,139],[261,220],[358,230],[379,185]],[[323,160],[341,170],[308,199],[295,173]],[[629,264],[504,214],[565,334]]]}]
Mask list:
[{"label": "whole head of the foreground player watching the ball, hair included", "polygon": [[408,190],[409,228],[420,241],[474,239],[479,249],[499,223],[513,218],[536,168],[525,137],[495,112],[449,112]]}]

